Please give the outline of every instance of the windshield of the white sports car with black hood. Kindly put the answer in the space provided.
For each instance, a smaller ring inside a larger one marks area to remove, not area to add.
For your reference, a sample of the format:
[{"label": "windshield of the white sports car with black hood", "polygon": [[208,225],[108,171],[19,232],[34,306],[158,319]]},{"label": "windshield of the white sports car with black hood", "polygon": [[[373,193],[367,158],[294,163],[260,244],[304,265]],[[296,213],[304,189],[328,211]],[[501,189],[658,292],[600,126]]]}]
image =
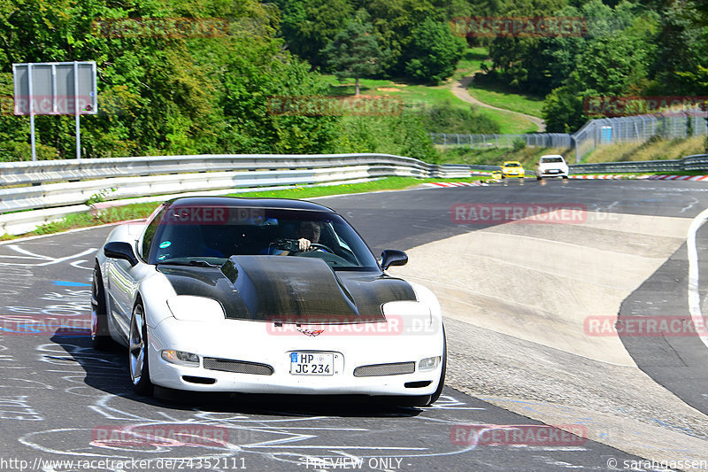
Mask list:
[{"label": "windshield of the white sports car with black hood", "polygon": [[[377,268],[357,232],[335,213],[226,206],[167,209],[151,224],[150,264],[221,265],[231,256],[323,259],[336,269]],[[299,239],[311,247],[300,251]]]}]

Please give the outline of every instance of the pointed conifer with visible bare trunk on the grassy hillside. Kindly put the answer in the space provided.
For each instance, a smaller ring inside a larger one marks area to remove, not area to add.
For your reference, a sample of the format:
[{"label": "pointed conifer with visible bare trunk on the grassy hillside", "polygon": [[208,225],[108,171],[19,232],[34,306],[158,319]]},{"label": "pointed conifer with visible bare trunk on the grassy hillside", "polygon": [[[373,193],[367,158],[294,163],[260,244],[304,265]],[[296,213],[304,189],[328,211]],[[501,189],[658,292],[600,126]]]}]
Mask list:
[{"label": "pointed conifer with visible bare trunk on the grassy hillside", "polygon": [[366,12],[362,10],[347,22],[321,53],[339,81],[347,77],[356,79],[355,95],[359,95],[359,77],[381,71],[383,55],[373,35],[373,27],[366,21]]}]

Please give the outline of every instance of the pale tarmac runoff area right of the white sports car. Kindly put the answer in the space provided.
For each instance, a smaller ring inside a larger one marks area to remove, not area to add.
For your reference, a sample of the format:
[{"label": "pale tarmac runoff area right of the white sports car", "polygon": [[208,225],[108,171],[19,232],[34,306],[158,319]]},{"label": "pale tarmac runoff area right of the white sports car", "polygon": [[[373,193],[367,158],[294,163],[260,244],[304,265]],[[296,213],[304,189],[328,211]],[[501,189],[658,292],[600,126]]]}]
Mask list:
[{"label": "pale tarmac runoff area right of the white sports car", "polygon": [[589,439],[648,460],[705,469],[708,416],[637,368],[619,337],[586,333],[588,317],[617,316],[691,221],[514,221],[415,247],[389,274],[440,299],[450,387],[546,424],[582,424]]}]

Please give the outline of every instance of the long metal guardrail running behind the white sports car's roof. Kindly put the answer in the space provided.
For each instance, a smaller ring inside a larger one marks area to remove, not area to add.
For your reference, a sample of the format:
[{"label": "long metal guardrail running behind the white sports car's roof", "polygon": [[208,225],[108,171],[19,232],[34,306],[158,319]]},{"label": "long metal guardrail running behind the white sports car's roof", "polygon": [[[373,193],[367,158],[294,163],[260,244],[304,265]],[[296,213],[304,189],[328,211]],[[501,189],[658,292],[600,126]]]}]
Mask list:
[{"label": "long metal guardrail running behind the white sports car's roof", "polygon": [[[218,155],[0,163],[0,234],[89,210],[93,200],[360,182],[386,176],[455,179],[471,166],[390,154]],[[62,182],[64,181],[64,182]],[[72,208],[71,210],[69,208]],[[52,218],[53,215],[56,218]]]}]

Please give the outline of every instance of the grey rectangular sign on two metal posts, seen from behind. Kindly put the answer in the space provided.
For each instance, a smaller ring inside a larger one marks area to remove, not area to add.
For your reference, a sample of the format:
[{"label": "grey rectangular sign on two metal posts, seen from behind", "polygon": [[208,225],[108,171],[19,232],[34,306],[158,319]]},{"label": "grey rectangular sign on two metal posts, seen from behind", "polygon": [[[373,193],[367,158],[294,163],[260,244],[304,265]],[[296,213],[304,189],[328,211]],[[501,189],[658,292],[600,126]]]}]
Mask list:
[{"label": "grey rectangular sign on two metal posts, seen from behind", "polygon": [[81,159],[82,114],[98,111],[96,62],[13,64],[16,115],[29,115],[32,160],[36,160],[35,115],[74,115],[76,159]]}]

